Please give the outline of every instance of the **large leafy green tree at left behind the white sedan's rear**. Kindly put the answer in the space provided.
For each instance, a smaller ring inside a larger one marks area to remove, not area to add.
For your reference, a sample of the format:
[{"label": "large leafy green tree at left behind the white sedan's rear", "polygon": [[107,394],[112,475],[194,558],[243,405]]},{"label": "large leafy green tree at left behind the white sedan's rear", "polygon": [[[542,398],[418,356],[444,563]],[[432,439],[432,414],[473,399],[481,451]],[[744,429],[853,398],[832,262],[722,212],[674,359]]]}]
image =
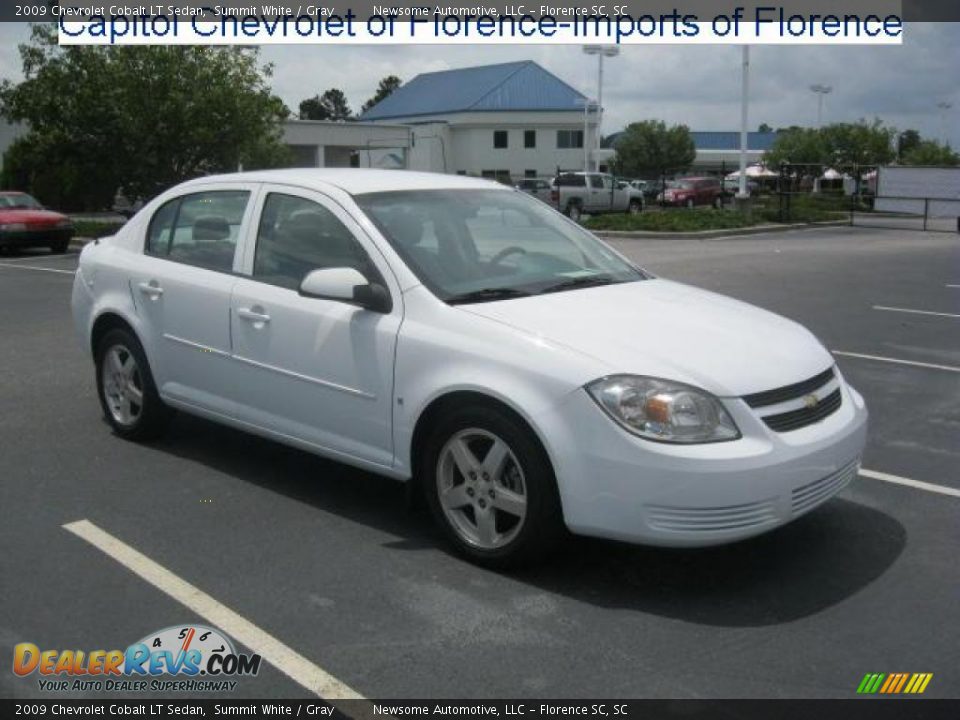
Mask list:
[{"label": "large leafy green tree at left behind the white sedan's rear", "polygon": [[0,114],[29,130],[5,179],[64,209],[102,209],[123,187],[152,197],[183,180],[282,164],[287,109],[255,48],[60,47],[37,24],[24,80],[0,84]]}]

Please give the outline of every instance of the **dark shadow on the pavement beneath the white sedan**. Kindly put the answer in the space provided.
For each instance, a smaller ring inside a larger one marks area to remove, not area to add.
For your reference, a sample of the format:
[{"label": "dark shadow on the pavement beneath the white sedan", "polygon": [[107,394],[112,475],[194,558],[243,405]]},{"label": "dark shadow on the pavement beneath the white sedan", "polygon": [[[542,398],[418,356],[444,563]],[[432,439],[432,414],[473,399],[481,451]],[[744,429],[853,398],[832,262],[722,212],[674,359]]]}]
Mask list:
[{"label": "dark shadow on the pavement beneath the white sedan", "polygon": [[[388,551],[431,552],[424,578],[462,562],[449,557],[428,513],[409,507],[406,487],[388,478],[206,420],[180,414],[155,449],[395,535]],[[300,538],[301,542],[308,542]],[[774,532],[730,545],[668,549],[569,537],[541,564],[503,577],[599,607],[730,627],[787,623],[836,605],[897,560],[905,528],[875,508],[834,498]],[[439,558],[437,553],[446,553]],[[411,578],[416,580],[416,578]]]}]

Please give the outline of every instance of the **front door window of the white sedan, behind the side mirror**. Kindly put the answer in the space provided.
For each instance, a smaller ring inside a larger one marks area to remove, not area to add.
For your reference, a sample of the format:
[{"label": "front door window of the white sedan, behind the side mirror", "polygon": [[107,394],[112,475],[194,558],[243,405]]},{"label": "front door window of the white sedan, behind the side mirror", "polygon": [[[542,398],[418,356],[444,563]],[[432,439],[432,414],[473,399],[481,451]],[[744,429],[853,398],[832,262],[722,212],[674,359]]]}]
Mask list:
[{"label": "front door window of the white sedan, behind the side mirror", "polygon": [[253,277],[297,290],[307,273],[351,267],[371,277],[370,260],[347,227],[319,203],[270,193],[263,204]]}]

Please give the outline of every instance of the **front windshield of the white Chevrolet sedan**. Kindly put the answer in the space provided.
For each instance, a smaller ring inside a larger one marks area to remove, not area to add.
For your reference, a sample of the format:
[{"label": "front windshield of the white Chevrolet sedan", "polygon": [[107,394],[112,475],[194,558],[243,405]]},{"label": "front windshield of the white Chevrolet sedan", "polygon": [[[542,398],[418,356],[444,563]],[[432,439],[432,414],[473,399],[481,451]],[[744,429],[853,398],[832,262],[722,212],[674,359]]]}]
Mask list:
[{"label": "front windshield of the white Chevrolet sedan", "polygon": [[356,201],[423,284],[451,304],[647,277],[524,193],[397,191]]}]

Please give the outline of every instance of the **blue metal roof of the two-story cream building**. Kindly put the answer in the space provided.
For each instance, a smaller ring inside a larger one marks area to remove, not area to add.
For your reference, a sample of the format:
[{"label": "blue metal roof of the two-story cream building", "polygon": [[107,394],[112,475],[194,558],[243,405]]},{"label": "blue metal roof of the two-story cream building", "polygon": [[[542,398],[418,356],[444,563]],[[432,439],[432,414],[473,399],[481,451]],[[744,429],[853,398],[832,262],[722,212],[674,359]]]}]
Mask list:
[{"label": "blue metal roof of the two-story cream building", "polygon": [[585,99],[553,73],[532,60],[524,60],[417,75],[363,113],[360,119],[478,111],[583,112]]}]

